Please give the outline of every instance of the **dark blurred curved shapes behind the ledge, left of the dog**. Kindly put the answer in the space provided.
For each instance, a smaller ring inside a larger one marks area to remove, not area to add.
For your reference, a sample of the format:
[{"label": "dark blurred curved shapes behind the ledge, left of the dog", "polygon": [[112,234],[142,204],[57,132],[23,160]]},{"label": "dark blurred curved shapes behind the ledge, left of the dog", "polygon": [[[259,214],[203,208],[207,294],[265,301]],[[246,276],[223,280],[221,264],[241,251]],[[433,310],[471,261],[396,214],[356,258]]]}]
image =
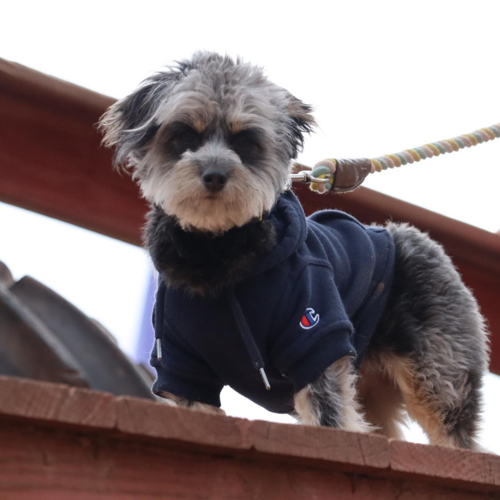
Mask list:
[{"label": "dark blurred curved shapes behind the ledge, left of the dog", "polygon": [[59,294],[0,262],[0,374],[153,399],[151,378]]}]

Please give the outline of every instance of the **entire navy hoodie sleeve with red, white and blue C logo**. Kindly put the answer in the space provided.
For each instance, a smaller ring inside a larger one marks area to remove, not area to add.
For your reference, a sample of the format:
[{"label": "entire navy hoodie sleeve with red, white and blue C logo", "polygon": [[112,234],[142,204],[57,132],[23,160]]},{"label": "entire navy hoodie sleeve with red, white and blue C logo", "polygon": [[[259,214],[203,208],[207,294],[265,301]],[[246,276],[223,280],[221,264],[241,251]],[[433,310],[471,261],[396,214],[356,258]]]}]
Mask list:
[{"label": "entire navy hoodie sleeve with red, white and blue C logo", "polygon": [[299,391],[332,363],[356,356],[349,320],[333,270],[310,263],[299,273],[280,315],[284,328],[272,346],[274,365]]}]

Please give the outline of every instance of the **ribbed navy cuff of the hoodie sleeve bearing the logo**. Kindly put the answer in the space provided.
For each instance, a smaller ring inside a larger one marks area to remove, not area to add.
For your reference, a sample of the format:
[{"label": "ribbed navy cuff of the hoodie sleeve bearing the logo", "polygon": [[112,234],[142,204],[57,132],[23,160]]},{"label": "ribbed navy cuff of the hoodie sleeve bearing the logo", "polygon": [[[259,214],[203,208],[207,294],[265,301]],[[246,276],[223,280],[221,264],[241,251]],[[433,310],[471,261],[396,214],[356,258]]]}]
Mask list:
[{"label": "ribbed navy cuff of the hoodie sleeve bearing the logo", "polygon": [[351,343],[351,332],[334,332],[322,337],[305,355],[288,369],[294,391],[298,392],[314,382],[332,363],[344,356],[356,357]]}]

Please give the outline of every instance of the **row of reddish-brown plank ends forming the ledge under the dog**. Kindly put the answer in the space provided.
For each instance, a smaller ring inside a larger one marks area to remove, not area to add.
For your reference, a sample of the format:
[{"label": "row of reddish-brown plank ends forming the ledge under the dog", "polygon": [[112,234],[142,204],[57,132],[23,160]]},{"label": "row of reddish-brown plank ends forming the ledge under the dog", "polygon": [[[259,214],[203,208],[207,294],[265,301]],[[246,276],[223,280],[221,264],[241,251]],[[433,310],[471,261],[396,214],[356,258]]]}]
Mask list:
[{"label": "row of reddish-brown plank ends forming the ledge under the dog", "polygon": [[500,457],[384,437],[224,417],[133,397],[0,376],[0,422],[102,432],[201,453],[297,461],[373,477],[500,491]]}]

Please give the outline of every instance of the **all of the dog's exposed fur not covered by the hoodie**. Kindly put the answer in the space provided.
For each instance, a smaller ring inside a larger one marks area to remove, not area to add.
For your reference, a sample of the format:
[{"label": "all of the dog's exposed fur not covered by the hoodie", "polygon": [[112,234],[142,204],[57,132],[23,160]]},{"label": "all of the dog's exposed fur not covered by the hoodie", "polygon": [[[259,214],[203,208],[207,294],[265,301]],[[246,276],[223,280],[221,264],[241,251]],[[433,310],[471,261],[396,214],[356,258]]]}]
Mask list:
[{"label": "all of the dog's exposed fur not covered by the hoodie", "polygon": [[[152,206],[145,245],[166,283],[214,293],[272,248],[273,228],[261,218],[315,126],[311,111],[261,68],[207,52],[154,74],[108,109],[104,142]],[[432,444],[477,448],[488,366],[478,304],[438,243],[407,224],[387,229],[394,284],[361,367],[334,363],[295,394],[295,416],[401,438],[409,415]]]}]

